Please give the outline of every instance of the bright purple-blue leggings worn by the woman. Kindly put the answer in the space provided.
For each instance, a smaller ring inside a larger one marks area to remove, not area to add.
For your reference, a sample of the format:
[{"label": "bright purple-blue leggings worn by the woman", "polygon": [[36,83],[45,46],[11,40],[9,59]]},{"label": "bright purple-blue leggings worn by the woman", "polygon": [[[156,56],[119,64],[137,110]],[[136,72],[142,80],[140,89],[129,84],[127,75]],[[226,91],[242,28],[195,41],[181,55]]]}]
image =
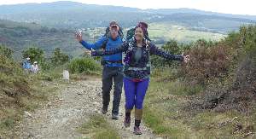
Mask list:
[{"label": "bright purple-blue leggings worn by the woman", "polygon": [[140,82],[134,82],[129,78],[124,78],[126,109],[132,109],[134,105],[137,109],[143,109],[143,101],[148,90],[148,83],[149,78]]}]

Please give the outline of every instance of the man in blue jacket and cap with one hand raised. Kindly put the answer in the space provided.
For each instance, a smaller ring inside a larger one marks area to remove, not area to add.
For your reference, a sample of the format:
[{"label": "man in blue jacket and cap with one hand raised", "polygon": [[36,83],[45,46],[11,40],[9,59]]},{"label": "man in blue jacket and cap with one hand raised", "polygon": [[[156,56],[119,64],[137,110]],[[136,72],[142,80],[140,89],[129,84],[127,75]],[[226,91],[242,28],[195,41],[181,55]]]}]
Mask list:
[{"label": "man in blue jacket and cap with one hand raised", "polygon": [[[104,49],[113,49],[118,48],[123,43],[119,31],[118,23],[112,21],[109,24],[109,32],[99,38],[96,43],[85,42],[81,32],[76,33],[76,38],[86,49],[101,49],[102,47]],[[112,84],[114,84],[112,119],[119,119],[119,102],[123,88],[122,53],[103,56],[102,65],[102,113],[108,113],[110,90],[112,89]]]}]

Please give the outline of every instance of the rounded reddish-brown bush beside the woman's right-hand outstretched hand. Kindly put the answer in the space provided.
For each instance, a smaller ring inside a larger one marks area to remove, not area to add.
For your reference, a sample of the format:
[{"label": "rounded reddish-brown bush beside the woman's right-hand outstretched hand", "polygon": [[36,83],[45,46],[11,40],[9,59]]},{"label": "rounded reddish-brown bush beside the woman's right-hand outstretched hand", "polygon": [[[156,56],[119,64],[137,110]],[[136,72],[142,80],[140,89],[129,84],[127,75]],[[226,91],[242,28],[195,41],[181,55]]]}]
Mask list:
[{"label": "rounded reddish-brown bush beside the woman's right-hand outstretched hand", "polygon": [[206,85],[212,78],[221,78],[229,72],[233,60],[230,47],[222,43],[196,42],[188,55],[190,61],[179,71],[189,81]]}]

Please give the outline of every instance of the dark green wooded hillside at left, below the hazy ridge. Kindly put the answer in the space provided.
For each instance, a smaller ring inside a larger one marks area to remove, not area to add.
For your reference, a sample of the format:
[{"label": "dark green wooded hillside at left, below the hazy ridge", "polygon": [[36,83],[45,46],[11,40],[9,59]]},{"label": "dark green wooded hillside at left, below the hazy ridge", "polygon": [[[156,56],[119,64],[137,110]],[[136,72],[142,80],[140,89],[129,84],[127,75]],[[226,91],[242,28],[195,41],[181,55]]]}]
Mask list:
[{"label": "dark green wooded hillside at left, below the hazy ridge", "polygon": [[[87,34],[84,34],[84,38],[90,39]],[[20,59],[22,50],[28,47],[43,49],[46,55],[50,55],[55,48],[61,48],[72,56],[83,55],[84,51],[71,30],[9,20],[0,20],[0,44],[13,49],[15,59]]]}]

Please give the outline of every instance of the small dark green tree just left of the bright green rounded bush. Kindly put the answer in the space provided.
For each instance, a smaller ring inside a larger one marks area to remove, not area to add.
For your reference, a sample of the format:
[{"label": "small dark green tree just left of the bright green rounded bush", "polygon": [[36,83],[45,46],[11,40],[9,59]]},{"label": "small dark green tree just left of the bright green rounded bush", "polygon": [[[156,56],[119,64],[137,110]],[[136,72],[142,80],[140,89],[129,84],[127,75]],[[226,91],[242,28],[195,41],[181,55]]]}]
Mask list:
[{"label": "small dark green tree just left of the bright green rounded bush", "polygon": [[60,48],[56,48],[53,56],[50,58],[53,65],[62,65],[69,61],[69,57],[61,52]]}]

